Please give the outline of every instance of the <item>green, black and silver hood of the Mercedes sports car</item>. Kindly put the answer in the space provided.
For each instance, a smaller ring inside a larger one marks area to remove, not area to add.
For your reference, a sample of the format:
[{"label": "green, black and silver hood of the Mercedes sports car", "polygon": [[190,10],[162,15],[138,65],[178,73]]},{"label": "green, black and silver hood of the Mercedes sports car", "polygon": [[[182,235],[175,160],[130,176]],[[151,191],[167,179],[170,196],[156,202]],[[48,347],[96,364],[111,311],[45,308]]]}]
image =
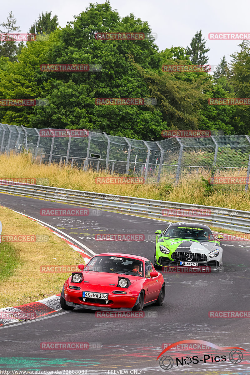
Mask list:
[{"label": "green, black and silver hood of the Mercedes sports car", "polygon": [[192,239],[169,239],[168,237],[163,237],[163,241],[159,243],[163,246],[165,245],[170,251],[171,254],[174,251],[186,252],[192,251],[201,254],[207,254],[213,251],[214,249],[220,248],[220,244],[217,241],[197,241]]}]

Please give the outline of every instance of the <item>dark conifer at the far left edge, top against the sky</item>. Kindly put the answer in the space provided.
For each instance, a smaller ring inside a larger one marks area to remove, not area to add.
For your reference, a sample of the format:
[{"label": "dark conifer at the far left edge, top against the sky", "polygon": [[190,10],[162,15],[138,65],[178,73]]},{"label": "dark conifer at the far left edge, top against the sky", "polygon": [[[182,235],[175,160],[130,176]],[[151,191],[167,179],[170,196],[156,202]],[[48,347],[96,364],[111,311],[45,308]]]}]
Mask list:
[{"label": "dark conifer at the far left edge, top against the sky", "polygon": [[[0,33],[3,34],[11,34],[20,31],[19,26],[16,26],[16,19],[14,18],[12,12],[9,13],[9,16],[7,17],[7,22],[2,22],[0,26],[4,28],[4,30],[0,30]],[[10,37],[7,39],[12,38]],[[15,61],[16,56],[20,53],[23,45],[23,42],[17,43],[15,39],[0,41],[0,57],[8,57],[10,61]]]}]

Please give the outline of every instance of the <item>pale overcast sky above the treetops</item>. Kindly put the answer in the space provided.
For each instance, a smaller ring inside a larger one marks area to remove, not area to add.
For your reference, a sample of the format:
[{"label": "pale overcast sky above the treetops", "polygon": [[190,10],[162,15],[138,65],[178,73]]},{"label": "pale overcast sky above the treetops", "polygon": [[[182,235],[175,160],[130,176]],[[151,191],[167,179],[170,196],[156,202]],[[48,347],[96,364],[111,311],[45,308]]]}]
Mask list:
[{"label": "pale overcast sky above the treetops", "polygon": [[[104,3],[105,0],[92,1]],[[31,24],[37,20],[39,13],[52,11],[52,16],[58,16],[61,27],[67,21],[73,21],[89,5],[86,0],[12,0],[1,1],[0,23],[6,21],[12,10],[21,32],[29,30]],[[206,46],[210,65],[220,62],[223,55],[230,61],[230,54],[239,49],[240,41],[208,40],[211,32],[239,32],[250,33],[249,0],[217,0],[217,1],[190,1],[190,0],[110,0],[112,9],[117,9],[121,17],[134,13],[136,18],[148,21],[152,32],[157,33],[156,44],[160,50],[173,46],[186,48],[198,30],[207,40]]]}]

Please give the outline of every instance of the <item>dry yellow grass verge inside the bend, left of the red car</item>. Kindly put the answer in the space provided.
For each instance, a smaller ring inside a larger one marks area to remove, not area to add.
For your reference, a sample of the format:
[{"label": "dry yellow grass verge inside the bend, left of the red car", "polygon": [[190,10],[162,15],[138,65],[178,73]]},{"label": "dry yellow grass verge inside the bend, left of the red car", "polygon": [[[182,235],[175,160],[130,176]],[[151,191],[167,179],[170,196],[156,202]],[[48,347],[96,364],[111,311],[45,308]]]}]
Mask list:
[{"label": "dry yellow grass verge inside the bend, left of the red car", "polygon": [[[61,292],[70,273],[42,273],[40,267],[84,264],[78,252],[48,228],[0,206],[0,308],[23,305]],[[5,242],[7,236],[33,236],[32,242]]]}]

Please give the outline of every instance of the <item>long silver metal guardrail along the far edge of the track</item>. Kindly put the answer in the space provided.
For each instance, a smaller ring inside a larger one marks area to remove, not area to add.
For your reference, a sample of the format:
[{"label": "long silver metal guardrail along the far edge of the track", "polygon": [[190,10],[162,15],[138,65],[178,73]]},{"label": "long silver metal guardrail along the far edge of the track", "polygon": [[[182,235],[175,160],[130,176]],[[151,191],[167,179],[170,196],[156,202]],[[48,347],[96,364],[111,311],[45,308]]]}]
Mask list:
[{"label": "long silver metal guardrail along the far edge of the track", "polygon": [[[42,198],[49,201],[73,203],[91,208],[121,211],[123,213],[146,214],[157,219],[187,222],[198,221],[207,225],[250,233],[249,211],[236,211],[230,208],[157,201],[156,199],[135,198],[133,196],[111,195],[21,183],[0,185],[0,192]],[[171,214],[169,214],[168,209],[172,210]],[[178,210],[176,215],[175,210]],[[196,217],[194,215],[198,210],[199,214]],[[202,210],[204,215],[201,215]]]}]

